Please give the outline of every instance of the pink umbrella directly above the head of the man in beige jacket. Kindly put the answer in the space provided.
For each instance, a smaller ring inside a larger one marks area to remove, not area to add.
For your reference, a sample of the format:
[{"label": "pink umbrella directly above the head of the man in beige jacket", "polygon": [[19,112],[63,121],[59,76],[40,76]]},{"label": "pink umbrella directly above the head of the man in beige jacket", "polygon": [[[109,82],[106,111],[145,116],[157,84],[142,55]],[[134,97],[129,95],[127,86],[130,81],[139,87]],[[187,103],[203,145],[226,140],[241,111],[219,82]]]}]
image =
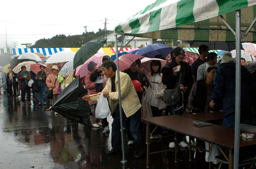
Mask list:
[{"label": "pink umbrella directly above the head of the man in beige jacket", "polygon": [[[137,54],[124,54],[119,57],[119,69],[120,71],[129,69],[130,66],[138,59],[143,58],[141,55]],[[116,60],[114,61],[116,63]]]}]

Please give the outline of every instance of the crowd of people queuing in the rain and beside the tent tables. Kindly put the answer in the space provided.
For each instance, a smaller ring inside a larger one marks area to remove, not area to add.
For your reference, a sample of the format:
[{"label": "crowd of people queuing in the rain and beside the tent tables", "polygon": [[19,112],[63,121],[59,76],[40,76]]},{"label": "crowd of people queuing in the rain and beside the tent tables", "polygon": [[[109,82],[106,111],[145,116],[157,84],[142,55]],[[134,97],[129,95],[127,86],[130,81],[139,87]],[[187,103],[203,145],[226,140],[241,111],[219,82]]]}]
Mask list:
[{"label": "crowd of people queuing in the rain and beside the tent tables", "polygon": [[[124,72],[120,72],[120,91],[122,101],[123,119],[126,123],[126,133],[129,139],[128,144],[132,144],[137,149],[134,157],[140,158],[145,155],[145,140],[143,140],[141,127],[141,102],[142,97],[147,97],[153,117],[166,115],[182,115],[192,112],[209,112],[223,110],[223,126],[234,127],[235,108],[235,75],[236,63],[230,52],[223,52],[222,59],[217,63],[217,54],[208,52],[208,46],[199,47],[200,57],[190,66],[184,62],[185,51],[181,47],[176,47],[171,55],[171,62],[162,67],[160,60],[152,60],[150,72],[145,74],[141,66],[140,59],[135,61],[131,67]],[[161,58],[157,55],[155,58]],[[253,77],[244,67],[246,61],[241,61],[241,123],[251,124],[251,111],[253,96],[256,93],[255,77]],[[38,106],[47,105],[47,90],[53,91],[53,97],[49,105],[53,105],[61,91],[74,80],[73,74],[64,76],[58,75],[59,68],[52,67],[52,73],[46,75],[45,67],[40,66],[40,71],[35,75],[39,91],[37,94]],[[88,95],[103,93],[103,97],[108,98],[111,116],[113,117],[111,144],[112,150],[106,154],[116,154],[121,150],[120,134],[120,109],[119,93],[117,83],[117,67],[108,56],[103,57],[102,65],[95,62],[88,64],[89,75],[84,77],[84,85],[88,89]],[[6,82],[9,97],[16,96],[21,91],[21,100],[26,104],[27,94],[28,104],[30,102],[30,87],[28,81],[31,79],[31,72],[26,71],[23,66],[19,73],[15,74],[11,68],[6,74]],[[141,88],[135,91],[132,80],[138,80]],[[19,88],[17,88],[17,82]],[[13,89],[13,92],[12,92]],[[174,102],[166,102],[163,97],[167,97],[167,91],[177,91],[181,95]],[[143,93],[147,93],[143,95]],[[33,93],[34,95],[34,93]],[[35,97],[35,96],[34,96]],[[109,122],[105,119],[95,117],[97,98],[94,96],[87,98],[89,101],[92,116],[90,116],[92,127],[104,127],[103,132],[108,133]],[[57,115],[57,113],[55,112]],[[161,132],[161,131],[160,131]],[[158,135],[160,136],[160,134]],[[178,143],[182,147],[187,147],[184,136],[177,135]],[[174,148],[173,138],[169,147]]]}]

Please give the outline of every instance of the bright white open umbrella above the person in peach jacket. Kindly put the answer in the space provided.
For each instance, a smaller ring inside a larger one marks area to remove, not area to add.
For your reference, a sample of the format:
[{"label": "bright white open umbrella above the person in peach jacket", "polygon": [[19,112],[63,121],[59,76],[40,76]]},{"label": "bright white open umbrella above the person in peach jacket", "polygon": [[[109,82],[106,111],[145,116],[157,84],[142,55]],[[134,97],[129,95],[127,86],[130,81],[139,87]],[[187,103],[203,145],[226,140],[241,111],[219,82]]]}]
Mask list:
[{"label": "bright white open umbrella above the person in peach jacket", "polygon": [[51,55],[47,59],[46,64],[69,62],[69,61],[73,61],[74,57],[75,57],[75,52],[73,51],[61,51]]}]

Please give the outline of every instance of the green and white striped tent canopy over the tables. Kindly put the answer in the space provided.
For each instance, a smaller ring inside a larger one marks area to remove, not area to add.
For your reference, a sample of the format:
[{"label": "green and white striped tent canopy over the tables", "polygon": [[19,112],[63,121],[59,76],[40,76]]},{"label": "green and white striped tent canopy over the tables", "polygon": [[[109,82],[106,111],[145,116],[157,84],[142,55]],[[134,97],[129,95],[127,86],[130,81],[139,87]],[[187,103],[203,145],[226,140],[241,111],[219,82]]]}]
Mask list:
[{"label": "green and white striped tent canopy over the tables", "polygon": [[[256,17],[255,0],[157,0],[115,27],[116,34],[136,37],[235,42],[222,15],[235,30],[235,11],[241,9],[241,30]],[[246,42],[256,42],[256,24]]]}]

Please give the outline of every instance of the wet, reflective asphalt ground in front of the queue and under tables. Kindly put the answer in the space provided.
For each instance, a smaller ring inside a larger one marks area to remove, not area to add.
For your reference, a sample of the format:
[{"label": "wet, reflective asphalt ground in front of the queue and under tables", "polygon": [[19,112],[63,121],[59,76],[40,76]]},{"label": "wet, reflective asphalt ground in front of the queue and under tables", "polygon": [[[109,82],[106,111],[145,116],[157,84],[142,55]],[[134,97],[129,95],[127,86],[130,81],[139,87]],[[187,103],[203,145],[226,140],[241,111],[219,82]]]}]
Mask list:
[{"label": "wet, reflective asphalt ground in front of the queue and under tables", "polygon": [[[0,95],[0,168],[146,168],[146,158],[133,157],[135,149],[127,146],[125,133],[127,162],[121,164],[122,154],[105,154],[111,150],[111,132],[70,122],[31,103]],[[111,124],[112,118],[108,121]],[[168,144],[168,138],[152,142],[151,151],[168,149]],[[189,164],[188,150],[181,148],[177,163],[174,151],[152,154],[150,159],[150,168],[208,168],[204,153]]]}]

